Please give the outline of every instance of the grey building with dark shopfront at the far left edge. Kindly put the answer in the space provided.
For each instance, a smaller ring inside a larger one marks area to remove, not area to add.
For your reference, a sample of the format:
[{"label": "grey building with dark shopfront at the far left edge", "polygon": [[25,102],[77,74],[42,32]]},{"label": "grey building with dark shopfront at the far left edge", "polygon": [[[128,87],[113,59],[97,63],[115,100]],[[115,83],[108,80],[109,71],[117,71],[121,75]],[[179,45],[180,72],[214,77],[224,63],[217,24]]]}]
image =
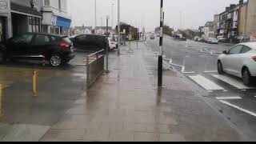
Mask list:
[{"label": "grey building with dark shopfront at the far left edge", "polygon": [[0,41],[16,34],[40,32],[41,7],[40,0],[0,0]]}]

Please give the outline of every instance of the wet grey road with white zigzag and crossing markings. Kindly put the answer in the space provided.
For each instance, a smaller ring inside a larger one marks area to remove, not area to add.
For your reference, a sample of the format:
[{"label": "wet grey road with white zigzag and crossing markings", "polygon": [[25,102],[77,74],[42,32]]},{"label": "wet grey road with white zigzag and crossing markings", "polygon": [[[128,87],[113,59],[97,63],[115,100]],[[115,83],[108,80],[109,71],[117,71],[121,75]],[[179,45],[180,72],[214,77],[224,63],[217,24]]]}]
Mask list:
[{"label": "wet grey road with white zigzag and crossing markings", "polygon": [[[158,38],[148,40],[147,46],[158,52]],[[166,64],[184,74],[198,95],[237,126],[248,138],[256,138],[256,86],[246,87],[240,78],[218,75],[218,54],[232,45],[211,45],[202,42],[175,41],[164,38]]]}]

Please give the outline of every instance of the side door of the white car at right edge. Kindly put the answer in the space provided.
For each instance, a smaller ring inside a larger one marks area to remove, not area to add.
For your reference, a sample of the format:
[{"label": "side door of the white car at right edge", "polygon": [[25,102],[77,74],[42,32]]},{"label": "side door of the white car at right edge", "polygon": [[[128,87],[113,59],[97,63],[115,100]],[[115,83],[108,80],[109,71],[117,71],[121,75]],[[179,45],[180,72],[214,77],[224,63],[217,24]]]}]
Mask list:
[{"label": "side door of the white car at right edge", "polygon": [[242,45],[234,46],[223,58],[223,69],[229,73],[238,76],[240,72],[236,69],[239,57],[241,56]]}]

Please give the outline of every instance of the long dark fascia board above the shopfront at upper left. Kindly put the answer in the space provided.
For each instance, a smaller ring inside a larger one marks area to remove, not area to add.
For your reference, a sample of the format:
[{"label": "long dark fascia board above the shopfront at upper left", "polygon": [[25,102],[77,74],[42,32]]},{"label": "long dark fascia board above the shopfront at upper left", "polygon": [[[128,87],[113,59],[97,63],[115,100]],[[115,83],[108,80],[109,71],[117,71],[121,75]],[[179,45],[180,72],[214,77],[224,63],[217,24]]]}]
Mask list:
[{"label": "long dark fascia board above the shopfront at upper left", "polygon": [[15,2],[10,2],[10,9],[12,11],[17,11],[19,14],[28,14],[28,15],[42,17],[42,14],[38,10],[34,10],[30,6],[20,5]]}]

